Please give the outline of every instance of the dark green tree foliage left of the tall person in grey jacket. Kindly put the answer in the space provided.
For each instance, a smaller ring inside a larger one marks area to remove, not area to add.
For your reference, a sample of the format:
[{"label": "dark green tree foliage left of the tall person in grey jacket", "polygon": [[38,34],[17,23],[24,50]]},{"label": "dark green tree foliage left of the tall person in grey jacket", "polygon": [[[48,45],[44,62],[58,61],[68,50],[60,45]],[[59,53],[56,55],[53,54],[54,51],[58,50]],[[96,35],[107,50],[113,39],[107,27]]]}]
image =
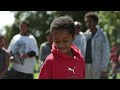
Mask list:
[{"label": "dark green tree foliage left of the tall person in grey jacket", "polygon": [[83,22],[83,31],[86,30],[84,23],[84,14],[86,11],[16,11],[15,14],[15,22],[11,27],[6,26],[5,29],[7,31],[6,36],[9,38],[9,42],[12,37],[19,33],[19,23],[20,21],[26,19],[30,23],[29,31],[32,33],[37,42],[38,46],[43,43],[45,38],[45,32],[50,28],[51,22],[54,18],[68,15],[71,16],[74,20]]}]

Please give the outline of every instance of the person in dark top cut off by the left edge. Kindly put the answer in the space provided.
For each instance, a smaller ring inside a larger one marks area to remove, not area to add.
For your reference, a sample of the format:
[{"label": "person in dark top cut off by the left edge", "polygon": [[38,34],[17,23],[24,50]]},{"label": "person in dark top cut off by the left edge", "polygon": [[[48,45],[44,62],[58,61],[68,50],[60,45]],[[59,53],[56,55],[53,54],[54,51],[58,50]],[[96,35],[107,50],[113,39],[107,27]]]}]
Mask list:
[{"label": "person in dark top cut off by the left edge", "polygon": [[5,75],[5,73],[8,70],[9,66],[9,55],[4,50],[4,36],[0,35],[0,79],[2,79]]}]

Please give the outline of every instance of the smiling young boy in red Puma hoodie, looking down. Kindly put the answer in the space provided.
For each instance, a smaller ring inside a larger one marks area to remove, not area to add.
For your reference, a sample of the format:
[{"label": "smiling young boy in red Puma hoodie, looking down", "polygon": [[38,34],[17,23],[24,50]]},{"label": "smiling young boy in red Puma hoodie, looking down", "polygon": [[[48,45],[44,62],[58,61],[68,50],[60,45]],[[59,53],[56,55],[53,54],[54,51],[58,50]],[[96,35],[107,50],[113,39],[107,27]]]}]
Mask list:
[{"label": "smiling young boy in red Puma hoodie, looking down", "polygon": [[61,16],[51,23],[53,45],[39,79],[84,79],[85,62],[79,49],[72,44],[75,38],[74,21]]}]

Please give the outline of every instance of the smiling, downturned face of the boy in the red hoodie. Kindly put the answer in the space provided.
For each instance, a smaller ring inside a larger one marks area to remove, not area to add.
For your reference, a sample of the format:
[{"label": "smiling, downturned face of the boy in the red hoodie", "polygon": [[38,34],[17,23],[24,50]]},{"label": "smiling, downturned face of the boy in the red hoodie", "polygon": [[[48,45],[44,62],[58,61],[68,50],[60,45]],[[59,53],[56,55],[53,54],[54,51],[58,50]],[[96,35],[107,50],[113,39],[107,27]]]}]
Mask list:
[{"label": "smiling, downturned face of the boy in the red hoodie", "polygon": [[64,54],[71,52],[71,44],[74,38],[67,30],[53,30],[52,37],[53,43],[60,52]]}]

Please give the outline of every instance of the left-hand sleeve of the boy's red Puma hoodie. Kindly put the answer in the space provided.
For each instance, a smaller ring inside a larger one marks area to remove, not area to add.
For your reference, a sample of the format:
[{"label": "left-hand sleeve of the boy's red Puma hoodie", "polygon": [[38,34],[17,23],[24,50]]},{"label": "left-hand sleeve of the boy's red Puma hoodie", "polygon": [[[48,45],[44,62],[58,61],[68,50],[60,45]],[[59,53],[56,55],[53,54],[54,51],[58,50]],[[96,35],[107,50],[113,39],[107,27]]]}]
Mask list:
[{"label": "left-hand sleeve of the boy's red Puma hoodie", "polygon": [[39,79],[51,79],[51,60],[46,59],[39,73]]}]

